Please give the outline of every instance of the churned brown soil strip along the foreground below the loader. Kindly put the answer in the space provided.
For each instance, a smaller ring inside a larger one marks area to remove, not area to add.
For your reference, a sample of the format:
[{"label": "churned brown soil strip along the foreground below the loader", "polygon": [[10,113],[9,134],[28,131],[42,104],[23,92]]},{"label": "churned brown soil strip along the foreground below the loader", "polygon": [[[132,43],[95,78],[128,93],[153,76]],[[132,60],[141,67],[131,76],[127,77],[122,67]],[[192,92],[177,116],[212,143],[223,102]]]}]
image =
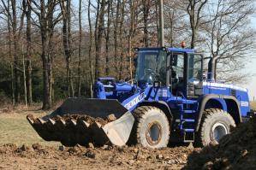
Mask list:
[{"label": "churned brown soil strip along the foreground below the loader", "polygon": [[[14,144],[0,146],[1,165],[28,166],[26,169],[181,169],[186,165],[192,147],[166,149],[145,149],[139,146],[85,148],[79,145],[71,148],[60,146],[43,147],[39,144],[17,147]],[[29,165],[25,162],[29,160]],[[15,162],[15,164],[12,164]],[[76,164],[77,163],[77,164]],[[51,167],[53,166],[54,167]],[[78,166],[79,167],[76,167]],[[5,168],[5,167],[3,167]]]}]

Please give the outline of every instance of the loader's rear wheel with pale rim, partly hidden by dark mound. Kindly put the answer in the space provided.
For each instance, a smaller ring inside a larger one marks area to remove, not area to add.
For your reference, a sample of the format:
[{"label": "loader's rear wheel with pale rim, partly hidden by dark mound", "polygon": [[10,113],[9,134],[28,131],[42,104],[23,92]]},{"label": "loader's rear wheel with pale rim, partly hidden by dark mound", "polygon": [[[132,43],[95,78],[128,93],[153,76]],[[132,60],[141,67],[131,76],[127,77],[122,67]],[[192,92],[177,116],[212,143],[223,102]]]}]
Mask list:
[{"label": "loader's rear wheel with pale rim, partly hidden by dark mound", "polygon": [[197,144],[199,146],[218,144],[221,138],[230,133],[231,127],[235,127],[235,121],[229,113],[218,108],[205,109]]}]

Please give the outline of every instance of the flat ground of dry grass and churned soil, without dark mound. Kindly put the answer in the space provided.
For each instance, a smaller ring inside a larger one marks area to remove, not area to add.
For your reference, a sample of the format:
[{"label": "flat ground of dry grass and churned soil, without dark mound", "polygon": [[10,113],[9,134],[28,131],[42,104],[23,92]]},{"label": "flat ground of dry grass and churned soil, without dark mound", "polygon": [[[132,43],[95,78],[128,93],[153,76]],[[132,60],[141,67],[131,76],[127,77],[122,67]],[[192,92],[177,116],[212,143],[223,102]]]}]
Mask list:
[{"label": "flat ground of dry grass and churned soil, without dark mound", "polygon": [[93,144],[67,148],[40,138],[27,114],[42,117],[46,113],[20,109],[0,114],[0,169],[181,169],[195,150],[193,146],[94,148]]}]

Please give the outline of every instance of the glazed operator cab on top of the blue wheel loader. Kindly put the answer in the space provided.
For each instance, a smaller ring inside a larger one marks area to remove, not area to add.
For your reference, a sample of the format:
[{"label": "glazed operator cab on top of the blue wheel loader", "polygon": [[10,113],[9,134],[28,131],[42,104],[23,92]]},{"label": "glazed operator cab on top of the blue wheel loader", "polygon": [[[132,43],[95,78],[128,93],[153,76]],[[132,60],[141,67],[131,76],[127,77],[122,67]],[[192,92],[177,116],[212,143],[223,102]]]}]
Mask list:
[{"label": "glazed operator cab on top of the blue wheel loader", "polygon": [[177,48],[136,49],[135,79],[140,87],[160,82],[174,96],[199,97],[203,93],[203,56]]}]

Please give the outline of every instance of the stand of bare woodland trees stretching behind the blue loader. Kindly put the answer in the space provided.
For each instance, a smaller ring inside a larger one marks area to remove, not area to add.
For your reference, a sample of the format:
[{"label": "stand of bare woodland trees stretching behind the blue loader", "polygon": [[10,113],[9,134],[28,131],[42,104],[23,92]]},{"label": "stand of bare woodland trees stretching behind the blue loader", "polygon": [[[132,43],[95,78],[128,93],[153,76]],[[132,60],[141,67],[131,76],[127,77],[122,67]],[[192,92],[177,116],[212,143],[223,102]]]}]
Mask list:
[{"label": "stand of bare woodland trees stretching behind the blue loader", "polygon": [[[51,108],[53,98],[62,99],[66,90],[73,97],[74,87],[78,96],[84,91],[92,97],[99,76],[134,78],[134,47],[159,45],[157,0],[77,2],[0,0],[1,65],[10,65],[0,67],[0,73],[9,75],[3,75],[8,85],[0,81],[0,87],[12,96],[13,103],[19,102],[20,96],[22,101],[27,96],[28,104],[32,96],[34,101],[42,97],[43,108]],[[82,13],[85,2],[86,16]],[[240,70],[255,38],[255,29],[249,26],[252,4],[253,0],[165,1],[166,44],[189,42],[192,48],[215,58],[216,78],[244,81]],[[27,79],[24,85],[22,78]],[[23,86],[27,86],[27,95]]]}]

